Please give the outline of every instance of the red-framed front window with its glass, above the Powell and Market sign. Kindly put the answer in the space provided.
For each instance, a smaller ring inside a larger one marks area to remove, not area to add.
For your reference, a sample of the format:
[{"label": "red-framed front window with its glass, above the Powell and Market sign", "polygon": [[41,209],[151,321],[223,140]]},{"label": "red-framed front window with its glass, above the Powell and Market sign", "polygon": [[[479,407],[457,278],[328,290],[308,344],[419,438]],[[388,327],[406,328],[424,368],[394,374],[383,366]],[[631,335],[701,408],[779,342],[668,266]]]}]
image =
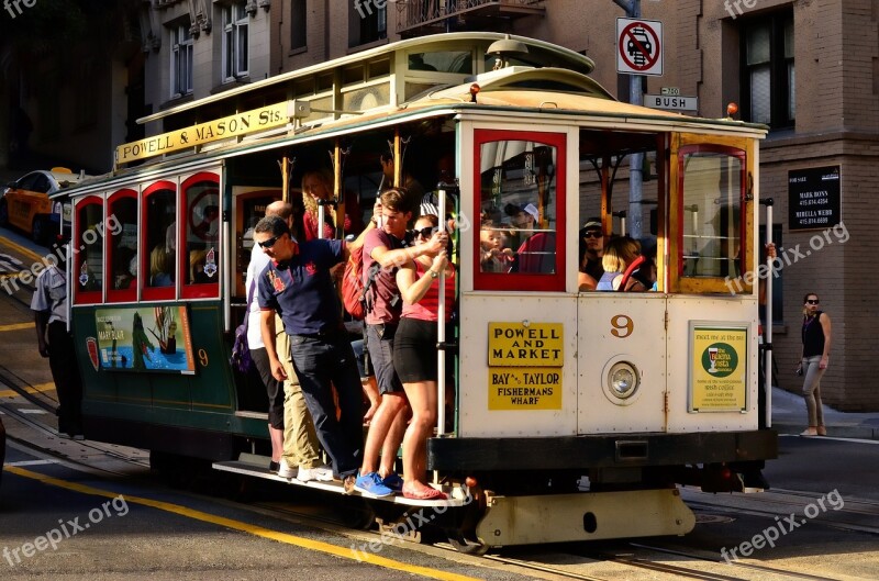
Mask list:
[{"label": "red-framed front window with its glass, above the Powell and Market sign", "polygon": [[564,239],[565,136],[489,131],[477,136],[478,288],[564,290],[564,245],[557,241]]}]

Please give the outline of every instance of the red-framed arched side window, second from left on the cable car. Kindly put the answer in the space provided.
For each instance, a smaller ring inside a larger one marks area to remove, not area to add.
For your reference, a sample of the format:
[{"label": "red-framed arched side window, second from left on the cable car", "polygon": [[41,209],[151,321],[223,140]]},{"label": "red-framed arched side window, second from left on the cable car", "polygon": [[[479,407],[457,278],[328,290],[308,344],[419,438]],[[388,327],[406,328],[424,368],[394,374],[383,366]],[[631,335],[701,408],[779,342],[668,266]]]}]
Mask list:
[{"label": "red-framed arched side window, second from left on the cable car", "polygon": [[107,221],[119,225],[107,232],[107,272],[111,280],[109,302],[137,298],[137,192],[119,190],[107,203]]}]

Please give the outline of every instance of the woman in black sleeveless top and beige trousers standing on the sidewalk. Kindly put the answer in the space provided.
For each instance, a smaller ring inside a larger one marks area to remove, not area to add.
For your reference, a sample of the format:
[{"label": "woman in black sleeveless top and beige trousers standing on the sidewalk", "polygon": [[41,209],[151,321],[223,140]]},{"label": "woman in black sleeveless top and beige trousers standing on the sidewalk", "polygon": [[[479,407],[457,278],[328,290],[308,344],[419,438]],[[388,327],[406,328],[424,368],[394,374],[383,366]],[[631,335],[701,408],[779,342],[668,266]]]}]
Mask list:
[{"label": "woman in black sleeveless top and beige trousers standing on the sidewalk", "polygon": [[797,375],[805,376],[803,398],[809,413],[809,427],[801,436],[826,436],[821,403],[821,377],[827,370],[831,354],[831,317],[819,308],[814,292],[803,298],[803,351]]}]

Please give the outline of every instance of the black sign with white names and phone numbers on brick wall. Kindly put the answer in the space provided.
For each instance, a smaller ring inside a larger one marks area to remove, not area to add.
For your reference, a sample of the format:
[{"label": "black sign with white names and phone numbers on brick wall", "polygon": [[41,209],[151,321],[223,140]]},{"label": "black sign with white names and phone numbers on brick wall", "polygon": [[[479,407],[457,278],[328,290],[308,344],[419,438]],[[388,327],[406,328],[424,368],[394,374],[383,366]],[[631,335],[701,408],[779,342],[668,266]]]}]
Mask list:
[{"label": "black sign with white names and phone numbers on brick wall", "polygon": [[842,222],[839,166],[788,171],[790,230],[835,226]]}]

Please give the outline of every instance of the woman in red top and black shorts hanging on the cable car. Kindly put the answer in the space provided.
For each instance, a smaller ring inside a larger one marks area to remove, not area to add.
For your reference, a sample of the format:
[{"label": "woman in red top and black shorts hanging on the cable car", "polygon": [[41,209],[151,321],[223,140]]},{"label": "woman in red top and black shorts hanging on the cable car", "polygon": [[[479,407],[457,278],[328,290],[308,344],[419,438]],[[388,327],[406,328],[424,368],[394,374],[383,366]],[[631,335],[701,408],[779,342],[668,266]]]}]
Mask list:
[{"label": "woman in red top and black shorts hanging on the cable car", "polygon": [[[429,214],[415,222],[415,244],[441,243],[448,236],[437,232],[439,220]],[[427,437],[436,425],[436,325],[439,320],[439,277],[445,277],[445,322],[455,302],[455,268],[446,250],[430,252],[401,266],[397,286],[403,298],[403,313],[393,344],[393,367],[412,406],[412,421],[403,436],[403,496],[418,500],[443,500],[446,494],[425,482]]]}]

